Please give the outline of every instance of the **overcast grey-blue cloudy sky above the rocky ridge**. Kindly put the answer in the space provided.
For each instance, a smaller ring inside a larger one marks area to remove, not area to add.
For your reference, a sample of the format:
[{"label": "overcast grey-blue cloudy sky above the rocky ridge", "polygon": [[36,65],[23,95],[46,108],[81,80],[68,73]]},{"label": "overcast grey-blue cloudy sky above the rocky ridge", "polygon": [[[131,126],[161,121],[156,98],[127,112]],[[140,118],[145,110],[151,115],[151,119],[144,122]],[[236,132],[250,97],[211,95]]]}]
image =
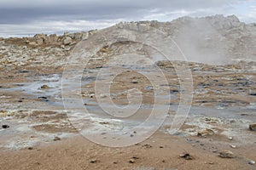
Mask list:
[{"label": "overcast grey-blue cloudy sky above the rocky ridge", "polygon": [[243,22],[256,23],[256,0],[0,0],[0,37],[214,14],[236,14]]}]

